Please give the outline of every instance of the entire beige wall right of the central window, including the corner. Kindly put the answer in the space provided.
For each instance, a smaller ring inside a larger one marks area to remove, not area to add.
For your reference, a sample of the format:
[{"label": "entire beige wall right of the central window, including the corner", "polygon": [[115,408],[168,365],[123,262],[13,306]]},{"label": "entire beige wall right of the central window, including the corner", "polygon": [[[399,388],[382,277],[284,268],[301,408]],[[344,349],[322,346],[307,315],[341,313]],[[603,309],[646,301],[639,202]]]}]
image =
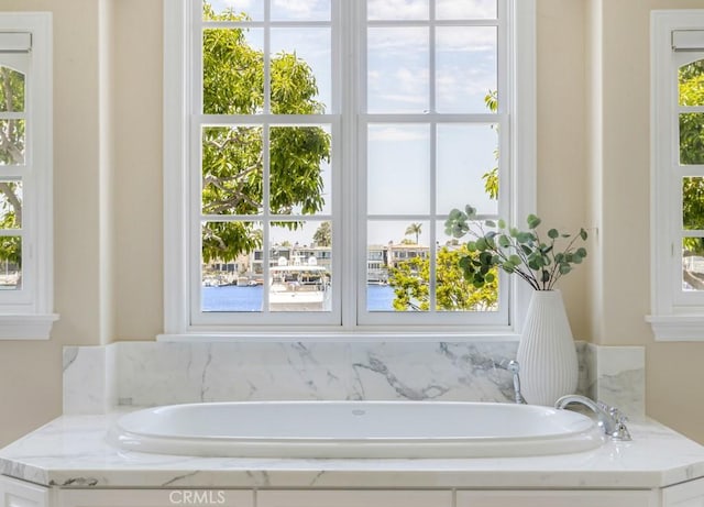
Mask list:
[{"label": "entire beige wall right of the central window, including the corner", "polygon": [[593,228],[562,289],[574,335],[644,345],[647,412],[704,443],[704,343],[656,343],[650,311],[650,11],[702,0],[537,0],[539,213]]}]

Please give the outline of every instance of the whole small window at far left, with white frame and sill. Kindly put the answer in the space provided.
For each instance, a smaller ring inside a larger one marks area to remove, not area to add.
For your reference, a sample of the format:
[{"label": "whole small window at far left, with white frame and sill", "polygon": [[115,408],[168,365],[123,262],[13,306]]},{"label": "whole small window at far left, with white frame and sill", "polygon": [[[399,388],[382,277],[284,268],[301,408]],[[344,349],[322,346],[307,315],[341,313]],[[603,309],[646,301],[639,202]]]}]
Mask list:
[{"label": "whole small window at far left, with white frame and sill", "polygon": [[0,14],[0,338],[48,338],[51,14]]}]

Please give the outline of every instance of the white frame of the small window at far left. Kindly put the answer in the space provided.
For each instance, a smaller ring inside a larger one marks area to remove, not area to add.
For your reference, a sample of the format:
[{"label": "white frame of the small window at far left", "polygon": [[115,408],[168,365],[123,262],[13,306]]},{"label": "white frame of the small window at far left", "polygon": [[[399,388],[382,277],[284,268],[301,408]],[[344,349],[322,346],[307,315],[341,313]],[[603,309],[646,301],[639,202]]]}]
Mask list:
[{"label": "white frame of the small window at far left", "polygon": [[[22,180],[22,287],[0,294],[0,339],[45,340],[58,319],[53,312],[52,14],[0,13],[0,35],[12,33],[30,34],[31,41],[31,48],[0,47],[0,64],[3,52],[13,52],[28,65],[25,165],[0,167],[0,176]],[[19,40],[6,41],[12,38]]]}]

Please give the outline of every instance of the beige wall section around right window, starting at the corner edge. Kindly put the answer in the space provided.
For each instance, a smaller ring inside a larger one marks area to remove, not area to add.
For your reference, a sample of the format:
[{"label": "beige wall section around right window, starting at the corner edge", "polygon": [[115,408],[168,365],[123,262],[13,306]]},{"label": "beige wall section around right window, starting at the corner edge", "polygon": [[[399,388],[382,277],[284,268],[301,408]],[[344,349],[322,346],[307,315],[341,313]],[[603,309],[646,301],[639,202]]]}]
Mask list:
[{"label": "beige wall section around right window, starting at the corner edge", "polygon": [[[539,0],[542,1],[542,0]],[[648,415],[704,443],[704,343],[656,343],[644,316],[650,311],[649,170],[650,54],[652,9],[703,9],[702,0],[594,0],[601,24],[601,157],[593,213],[601,230],[600,298],[591,340],[647,348]],[[598,12],[601,11],[601,12]]]}]

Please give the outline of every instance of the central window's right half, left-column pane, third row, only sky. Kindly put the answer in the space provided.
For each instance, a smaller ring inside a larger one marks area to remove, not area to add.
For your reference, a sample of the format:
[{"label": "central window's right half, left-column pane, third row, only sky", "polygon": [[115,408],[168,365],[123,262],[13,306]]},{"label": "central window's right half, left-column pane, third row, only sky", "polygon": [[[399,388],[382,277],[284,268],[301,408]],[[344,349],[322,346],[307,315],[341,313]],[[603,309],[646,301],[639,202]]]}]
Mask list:
[{"label": "central window's right half, left-column pane, third row, only sky", "polygon": [[373,124],[367,137],[369,214],[430,211],[430,128]]}]

